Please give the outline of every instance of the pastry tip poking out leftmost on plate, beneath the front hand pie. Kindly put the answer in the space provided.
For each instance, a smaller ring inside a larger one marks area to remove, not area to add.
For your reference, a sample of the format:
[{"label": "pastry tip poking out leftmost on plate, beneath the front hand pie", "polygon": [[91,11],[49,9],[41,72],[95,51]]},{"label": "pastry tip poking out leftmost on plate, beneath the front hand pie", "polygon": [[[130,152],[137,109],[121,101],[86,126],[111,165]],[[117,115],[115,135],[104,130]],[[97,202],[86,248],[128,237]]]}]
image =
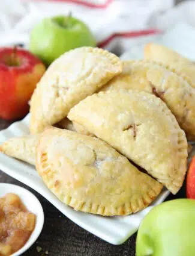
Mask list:
[{"label": "pastry tip poking out leftmost on plate, beneath the front hand pie", "polygon": [[11,138],[0,146],[0,152],[35,165],[35,149],[39,136],[27,135]]}]

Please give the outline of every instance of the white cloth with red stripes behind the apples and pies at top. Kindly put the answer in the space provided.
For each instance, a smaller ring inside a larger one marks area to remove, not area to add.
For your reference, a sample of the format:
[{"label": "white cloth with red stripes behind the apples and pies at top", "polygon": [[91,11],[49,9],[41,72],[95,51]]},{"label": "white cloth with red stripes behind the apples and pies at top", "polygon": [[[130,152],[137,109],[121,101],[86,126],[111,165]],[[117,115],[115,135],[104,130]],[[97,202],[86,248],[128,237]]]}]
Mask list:
[{"label": "white cloth with red stripes behind the apples and pies at top", "polygon": [[174,0],[0,0],[0,46],[25,43],[28,48],[29,33],[39,20],[70,11],[88,24],[100,46],[116,54],[157,40],[160,31],[178,22],[195,27],[195,1],[175,7]]}]

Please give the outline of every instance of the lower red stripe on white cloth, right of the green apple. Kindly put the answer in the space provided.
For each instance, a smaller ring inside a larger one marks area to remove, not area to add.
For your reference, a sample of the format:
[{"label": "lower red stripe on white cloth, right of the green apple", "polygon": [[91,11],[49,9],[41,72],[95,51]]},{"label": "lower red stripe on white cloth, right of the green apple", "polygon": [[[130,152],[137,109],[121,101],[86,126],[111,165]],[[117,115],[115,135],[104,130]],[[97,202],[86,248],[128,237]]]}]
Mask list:
[{"label": "lower red stripe on white cloth, right of the green apple", "polygon": [[124,33],[114,33],[111,36],[104,39],[102,42],[98,43],[98,47],[104,48],[107,44],[109,44],[113,39],[116,37],[140,37],[140,36],[149,36],[152,34],[161,33],[160,30],[139,30],[139,31],[131,31],[131,32],[124,32]]}]

